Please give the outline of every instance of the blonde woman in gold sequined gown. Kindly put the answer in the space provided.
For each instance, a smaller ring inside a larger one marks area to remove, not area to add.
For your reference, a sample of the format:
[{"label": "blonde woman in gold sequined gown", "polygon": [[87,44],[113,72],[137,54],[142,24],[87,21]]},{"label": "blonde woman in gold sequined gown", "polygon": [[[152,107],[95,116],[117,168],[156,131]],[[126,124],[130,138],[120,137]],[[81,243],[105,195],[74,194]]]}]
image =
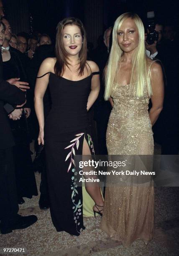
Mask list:
[{"label": "blonde woman in gold sequined gown", "polygon": [[[136,14],[124,13],[115,21],[105,84],[105,100],[113,106],[108,154],[153,155],[152,125],[162,110],[164,81],[161,66],[146,56],[144,27]],[[130,176],[106,187],[101,229],[125,247],[136,239],[147,244],[154,230],[152,180],[134,185]]]}]

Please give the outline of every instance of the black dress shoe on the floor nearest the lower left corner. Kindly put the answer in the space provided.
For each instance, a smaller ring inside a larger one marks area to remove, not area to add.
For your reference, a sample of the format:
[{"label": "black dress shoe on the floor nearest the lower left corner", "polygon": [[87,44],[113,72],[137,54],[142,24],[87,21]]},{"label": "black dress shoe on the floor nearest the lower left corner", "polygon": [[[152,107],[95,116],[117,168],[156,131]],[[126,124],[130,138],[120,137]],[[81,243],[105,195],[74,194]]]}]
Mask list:
[{"label": "black dress shoe on the floor nearest the lower left corner", "polygon": [[36,221],[37,221],[36,215],[29,215],[29,216],[18,215],[15,222],[12,223],[11,225],[7,225],[7,222],[4,223],[3,221],[1,221],[0,231],[2,234],[8,234],[8,233],[11,233],[15,229],[28,228]]}]

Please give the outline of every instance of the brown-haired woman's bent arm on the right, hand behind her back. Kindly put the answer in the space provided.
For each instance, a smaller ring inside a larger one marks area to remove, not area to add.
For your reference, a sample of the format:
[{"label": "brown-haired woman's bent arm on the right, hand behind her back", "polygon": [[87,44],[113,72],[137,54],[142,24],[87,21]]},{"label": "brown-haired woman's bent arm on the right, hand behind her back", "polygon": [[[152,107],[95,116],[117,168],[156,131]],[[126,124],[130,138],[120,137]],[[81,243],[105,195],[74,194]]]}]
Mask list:
[{"label": "brown-haired woman's bent arm on the right, hand behind her back", "polygon": [[[99,67],[95,62],[93,61],[88,61],[88,62],[90,64],[90,68],[92,72],[99,72]],[[100,92],[100,75],[94,74],[91,80],[91,92],[88,97],[87,110],[89,110],[92,107],[92,105],[95,103],[95,100],[97,99],[99,92]]]}]

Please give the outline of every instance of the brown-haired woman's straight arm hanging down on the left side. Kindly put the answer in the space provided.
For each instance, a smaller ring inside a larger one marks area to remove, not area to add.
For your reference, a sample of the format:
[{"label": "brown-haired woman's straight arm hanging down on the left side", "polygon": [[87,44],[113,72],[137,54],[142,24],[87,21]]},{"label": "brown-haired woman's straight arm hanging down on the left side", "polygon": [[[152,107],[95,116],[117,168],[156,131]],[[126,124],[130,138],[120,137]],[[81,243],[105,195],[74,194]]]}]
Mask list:
[{"label": "brown-haired woman's straight arm hanging down on the left side", "polygon": [[35,105],[35,111],[36,111],[38,124],[39,124],[38,145],[40,145],[41,143],[44,144],[43,96],[49,84],[49,74],[46,74],[46,73],[51,72],[51,70],[52,70],[52,58],[47,58],[42,62],[41,67],[38,71],[37,79],[36,79],[34,105]]}]

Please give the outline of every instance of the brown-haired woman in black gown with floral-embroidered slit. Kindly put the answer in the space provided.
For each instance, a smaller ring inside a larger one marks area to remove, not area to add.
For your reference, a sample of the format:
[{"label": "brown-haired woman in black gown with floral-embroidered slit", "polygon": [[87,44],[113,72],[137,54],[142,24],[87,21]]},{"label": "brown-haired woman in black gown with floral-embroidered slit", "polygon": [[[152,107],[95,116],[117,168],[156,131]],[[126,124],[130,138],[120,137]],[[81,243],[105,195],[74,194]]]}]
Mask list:
[{"label": "brown-haired woman in black gown with floral-embroidered slit", "polygon": [[[81,21],[62,20],[57,26],[56,58],[43,61],[35,88],[38,143],[45,145],[51,218],[57,231],[75,236],[85,227],[74,155],[94,154],[87,110],[100,90],[99,68],[86,58],[87,40]],[[48,84],[52,107],[44,127],[43,95]],[[95,201],[94,212],[102,213],[100,187],[86,189]]]}]

